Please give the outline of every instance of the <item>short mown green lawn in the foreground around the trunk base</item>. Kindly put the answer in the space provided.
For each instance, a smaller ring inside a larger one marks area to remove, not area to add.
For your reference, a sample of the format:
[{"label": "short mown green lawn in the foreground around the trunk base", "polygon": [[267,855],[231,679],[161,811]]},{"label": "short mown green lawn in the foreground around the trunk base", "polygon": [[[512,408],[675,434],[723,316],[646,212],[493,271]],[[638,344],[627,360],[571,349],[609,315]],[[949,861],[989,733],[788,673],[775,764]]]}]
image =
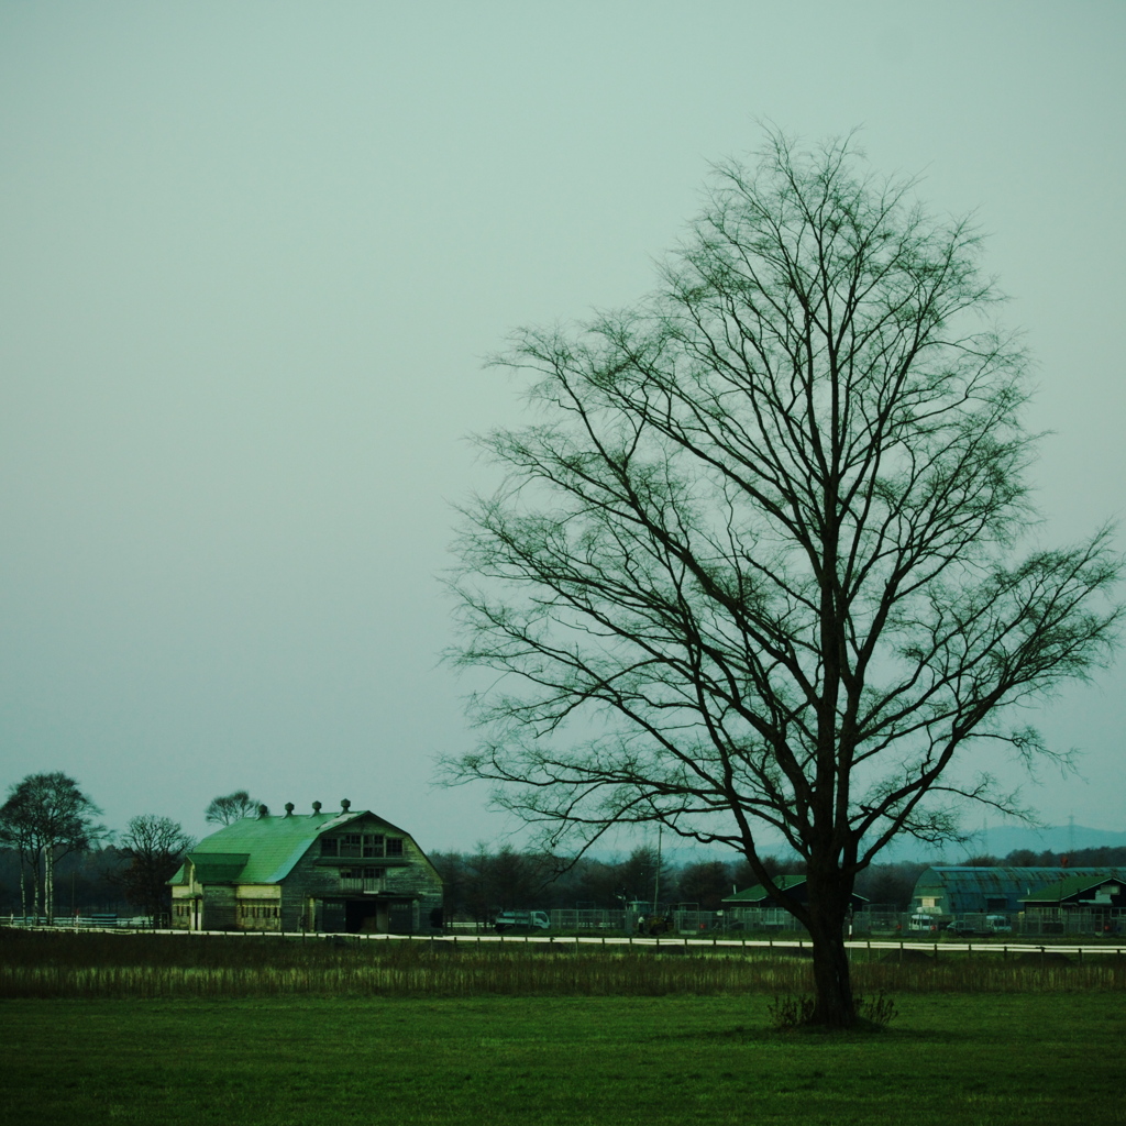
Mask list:
[{"label": "short mown green lawn in the foreground around the trunk base", "polygon": [[1120,993],[897,1003],[840,1037],[763,997],[8,1000],[0,1121],[1126,1123]]}]

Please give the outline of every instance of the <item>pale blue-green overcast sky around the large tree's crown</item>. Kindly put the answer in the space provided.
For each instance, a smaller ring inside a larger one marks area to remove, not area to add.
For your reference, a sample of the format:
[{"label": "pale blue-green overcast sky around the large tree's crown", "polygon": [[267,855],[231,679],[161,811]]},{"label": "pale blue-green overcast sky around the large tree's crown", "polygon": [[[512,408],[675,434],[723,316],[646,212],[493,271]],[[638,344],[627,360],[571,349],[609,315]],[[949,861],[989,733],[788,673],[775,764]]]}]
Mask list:
[{"label": "pale blue-green overcast sky around the large tree's crown", "polygon": [[[0,785],[120,829],[341,797],[425,848],[482,357],[653,284],[759,119],[977,209],[1052,429],[1045,536],[1123,516],[1126,6],[0,0]],[[1040,722],[1123,828],[1126,661]],[[971,813],[981,823],[980,813]]]}]

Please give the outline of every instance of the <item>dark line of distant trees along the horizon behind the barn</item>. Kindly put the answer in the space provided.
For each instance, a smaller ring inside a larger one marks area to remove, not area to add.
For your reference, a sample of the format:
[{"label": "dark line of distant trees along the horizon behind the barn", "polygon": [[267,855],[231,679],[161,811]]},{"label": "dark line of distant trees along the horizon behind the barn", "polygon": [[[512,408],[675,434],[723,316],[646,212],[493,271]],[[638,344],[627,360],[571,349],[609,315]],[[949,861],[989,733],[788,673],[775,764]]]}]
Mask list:
[{"label": "dark line of distant trees along the horizon behind the barn", "polygon": [[[0,912],[53,922],[66,912],[119,912],[136,908],[153,920],[167,915],[168,881],[195,846],[180,824],[158,814],[132,817],[115,834],[96,819],[97,805],[61,771],[28,775],[10,787],[0,806]],[[265,816],[268,807],[247,790],[214,798],[204,817],[229,825]],[[561,858],[510,846],[479,846],[468,852],[429,854],[445,883],[447,919],[490,922],[498,912],[531,910],[623,910],[652,903],[668,910],[720,911],[724,897],[760,883],[745,860],[673,863],[652,846],[625,856]],[[805,873],[796,856],[763,857],[771,877]],[[963,861],[982,867],[1126,867],[1126,848],[1078,849],[1061,855],[1017,849],[1006,857],[981,855]],[[874,906],[905,911],[924,863],[875,864],[857,878],[857,894]]]}]

